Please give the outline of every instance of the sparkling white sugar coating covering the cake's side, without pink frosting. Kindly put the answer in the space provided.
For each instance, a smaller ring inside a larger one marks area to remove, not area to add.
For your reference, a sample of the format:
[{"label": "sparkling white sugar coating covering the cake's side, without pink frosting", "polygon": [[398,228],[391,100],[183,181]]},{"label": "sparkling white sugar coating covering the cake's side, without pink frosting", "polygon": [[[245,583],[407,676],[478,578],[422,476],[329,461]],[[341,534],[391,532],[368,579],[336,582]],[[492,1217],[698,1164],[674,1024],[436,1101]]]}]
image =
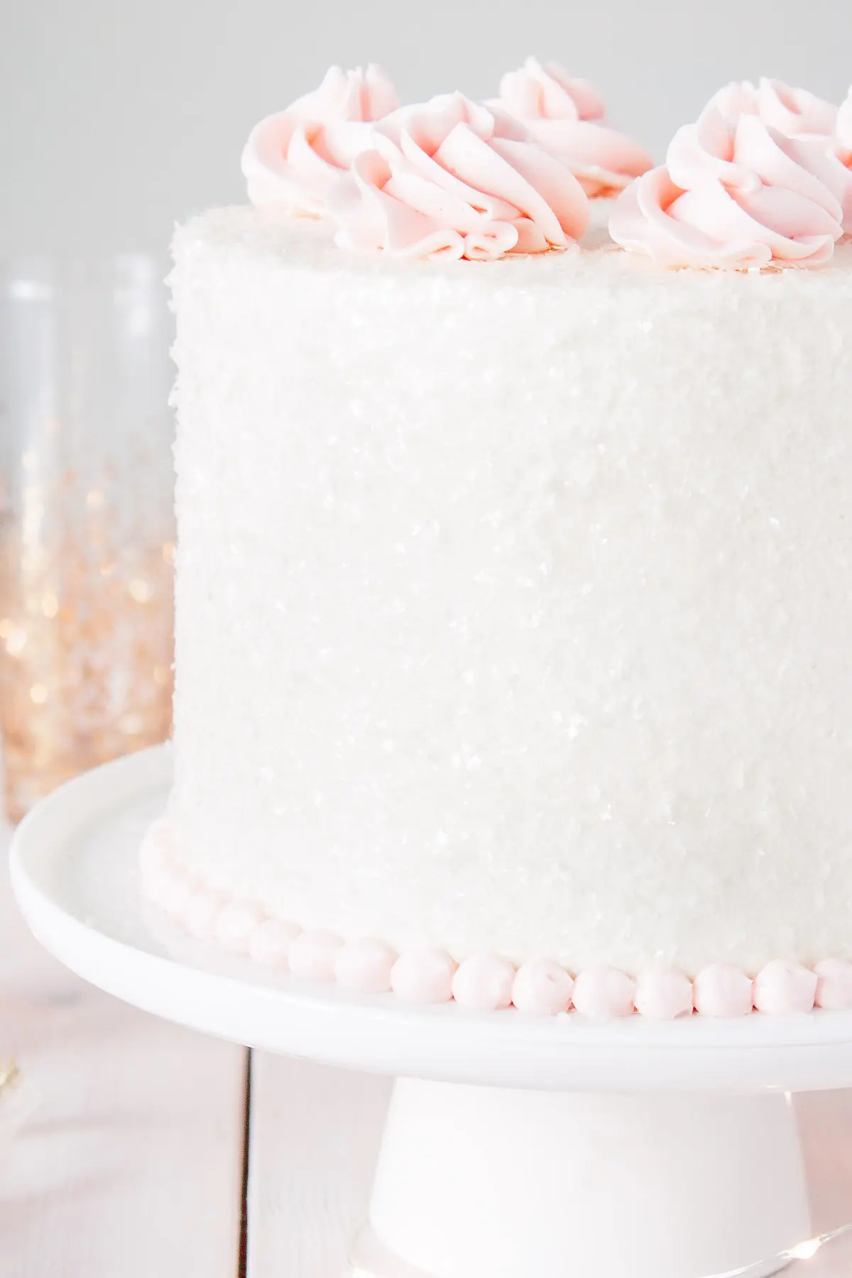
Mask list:
[{"label": "sparkling white sugar coating covering the cake's side, without pink frosting", "polygon": [[457,960],[852,957],[852,248],[175,256],[193,873]]}]

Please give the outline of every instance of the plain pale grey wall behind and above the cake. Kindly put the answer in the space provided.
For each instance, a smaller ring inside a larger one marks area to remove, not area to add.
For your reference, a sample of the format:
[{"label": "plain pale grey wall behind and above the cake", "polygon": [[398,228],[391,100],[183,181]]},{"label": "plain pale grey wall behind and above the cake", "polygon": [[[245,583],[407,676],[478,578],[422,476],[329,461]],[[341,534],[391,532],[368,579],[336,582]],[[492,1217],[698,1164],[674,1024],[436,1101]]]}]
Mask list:
[{"label": "plain pale grey wall behind and above the cake", "polygon": [[332,61],[480,97],[530,52],[662,157],[732,78],[843,97],[852,0],[0,0],[0,253],[164,245],[243,198],[250,125]]}]

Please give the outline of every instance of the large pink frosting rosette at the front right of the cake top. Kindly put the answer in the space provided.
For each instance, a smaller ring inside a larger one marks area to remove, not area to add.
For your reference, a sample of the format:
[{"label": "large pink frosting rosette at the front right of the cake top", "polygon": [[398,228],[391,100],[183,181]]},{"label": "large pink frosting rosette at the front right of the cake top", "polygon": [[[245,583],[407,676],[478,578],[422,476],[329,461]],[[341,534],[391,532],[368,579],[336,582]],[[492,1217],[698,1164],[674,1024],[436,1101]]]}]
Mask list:
[{"label": "large pink frosting rosette at the front right of the cake top", "polygon": [[678,129],[663,167],[622,192],[609,234],[660,266],[819,266],[843,234],[846,179],[815,143],[710,105]]}]

